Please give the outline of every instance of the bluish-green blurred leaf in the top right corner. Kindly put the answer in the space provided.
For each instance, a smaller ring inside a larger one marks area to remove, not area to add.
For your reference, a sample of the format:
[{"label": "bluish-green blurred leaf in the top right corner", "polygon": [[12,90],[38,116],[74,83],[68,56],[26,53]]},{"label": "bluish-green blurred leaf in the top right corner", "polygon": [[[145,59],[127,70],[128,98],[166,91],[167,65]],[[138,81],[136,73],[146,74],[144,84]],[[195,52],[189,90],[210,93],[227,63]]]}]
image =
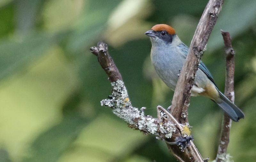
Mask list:
[{"label": "bluish-green blurred leaf in the top right corner", "polygon": [[229,32],[234,38],[246,32],[256,23],[256,1],[226,1],[214,26],[207,48],[216,50],[223,46],[220,29]]}]

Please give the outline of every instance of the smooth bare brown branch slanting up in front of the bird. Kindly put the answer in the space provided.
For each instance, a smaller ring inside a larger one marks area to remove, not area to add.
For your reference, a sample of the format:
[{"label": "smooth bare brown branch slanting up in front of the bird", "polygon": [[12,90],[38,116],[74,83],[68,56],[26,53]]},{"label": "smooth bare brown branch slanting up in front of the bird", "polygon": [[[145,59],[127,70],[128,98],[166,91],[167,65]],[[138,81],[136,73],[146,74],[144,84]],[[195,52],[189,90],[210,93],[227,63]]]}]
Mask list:
[{"label": "smooth bare brown branch slanting up in front of the bird", "polygon": [[186,62],[182,67],[172,99],[171,114],[182,124],[188,125],[190,89],[206,48],[206,43],[218,18],[224,0],[209,0],[191,41]]}]

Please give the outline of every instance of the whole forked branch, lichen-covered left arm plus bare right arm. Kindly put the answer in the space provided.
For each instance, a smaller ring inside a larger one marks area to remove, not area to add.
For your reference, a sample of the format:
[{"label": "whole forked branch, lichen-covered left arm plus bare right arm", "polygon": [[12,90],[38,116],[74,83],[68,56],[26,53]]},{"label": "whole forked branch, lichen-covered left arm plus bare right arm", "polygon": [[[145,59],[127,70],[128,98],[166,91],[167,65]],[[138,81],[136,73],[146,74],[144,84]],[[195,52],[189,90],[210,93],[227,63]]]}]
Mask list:
[{"label": "whole forked branch, lichen-covered left arm plus bare right arm", "polygon": [[[221,10],[223,1],[224,0],[209,0],[206,5],[192,39],[186,62],[180,73],[173,96],[171,113],[179,123],[184,125],[189,125],[187,109],[190,99],[189,92],[194,81],[194,76],[205,50],[209,35],[212,32],[212,28]],[[130,127],[142,130],[145,134],[154,134],[156,137],[167,141],[169,150],[172,151],[179,161],[208,161],[208,159],[202,158],[196,146],[190,140],[186,141],[185,147],[180,149],[181,146],[177,145],[177,139],[180,137],[185,139],[188,135],[182,133],[182,130],[177,128],[175,124],[172,124],[170,122],[171,119],[167,120],[166,113],[160,113],[161,117],[155,119],[152,118],[152,116],[144,116],[144,108],[141,109],[142,112],[140,112],[137,108],[132,107],[122,77],[114,65],[113,60],[108,55],[107,45],[99,42],[98,47],[91,47],[90,49],[92,53],[98,57],[98,61],[108,74],[113,87],[112,96],[110,96],[109,99],[102,100],[101,105],[110,107],[113,113],[129,123]],[[176,144],[173,145],[173,143]]]}]

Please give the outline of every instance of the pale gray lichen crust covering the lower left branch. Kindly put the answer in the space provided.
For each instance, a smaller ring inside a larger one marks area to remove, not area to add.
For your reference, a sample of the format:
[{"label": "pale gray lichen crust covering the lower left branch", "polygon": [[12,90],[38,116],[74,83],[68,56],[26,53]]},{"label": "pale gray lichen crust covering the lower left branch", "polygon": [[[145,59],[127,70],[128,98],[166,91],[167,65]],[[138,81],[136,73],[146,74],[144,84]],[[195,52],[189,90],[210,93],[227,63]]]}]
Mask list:
[{"label": "pale gray lichen crust covering the lower left branch", "polygon": [[[111,85],[113,87],[112,95],[109,96],[109,99],[102,100],[100,102],[101,106],[110,107],[116,116],[147,134],[159,136],[161,133],[165,134],[165,138],[172,137],[175,128],[170,121],[159,123],[152,116],[144,116],[143,110],[145,108],[141,109],[142,112],[140,112],[138,108],[132,107],[123,81],[117,80],[116,82],[111,82]],[[161,117],[164,117],[164,114],[161,114]]]}]

